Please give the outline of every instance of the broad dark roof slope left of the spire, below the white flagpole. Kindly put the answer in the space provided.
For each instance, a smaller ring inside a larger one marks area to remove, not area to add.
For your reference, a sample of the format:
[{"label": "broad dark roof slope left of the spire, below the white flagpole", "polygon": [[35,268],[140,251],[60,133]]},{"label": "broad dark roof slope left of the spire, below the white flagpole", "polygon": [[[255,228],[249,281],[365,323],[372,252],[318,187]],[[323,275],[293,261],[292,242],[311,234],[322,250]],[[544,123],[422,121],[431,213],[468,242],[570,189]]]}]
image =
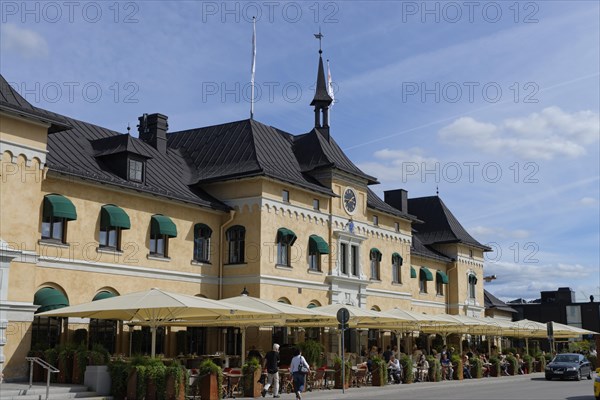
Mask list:
[{"label": "broad dark roof slope left of the spire, below the white flagpole", "polygon": [[192,183],[267,176],[333,196],[330,188],[303,173],[292,135],[255,120],[242,120],[167,135],[194,166]]}]

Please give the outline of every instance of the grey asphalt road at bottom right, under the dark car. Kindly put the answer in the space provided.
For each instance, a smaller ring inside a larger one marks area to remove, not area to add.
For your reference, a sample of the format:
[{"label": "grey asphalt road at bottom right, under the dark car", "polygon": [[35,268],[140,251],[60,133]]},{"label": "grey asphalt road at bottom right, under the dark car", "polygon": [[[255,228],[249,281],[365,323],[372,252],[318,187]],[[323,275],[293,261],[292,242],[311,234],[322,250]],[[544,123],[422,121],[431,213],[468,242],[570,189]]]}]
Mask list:
[{"label": "grey asphalt road at bottom right, under the dark car", "polygon": [[[302,394],[304,400],[317,399],[431,399],[431,400],[594,400],[591,381],[547,381],[541,373],[500,378],[483,378],[437,383],[388,385],[341,390],[319,390]],[[267,399],[272,399],[267,395]],[[295,399],[294,394],[281,395]]]}]

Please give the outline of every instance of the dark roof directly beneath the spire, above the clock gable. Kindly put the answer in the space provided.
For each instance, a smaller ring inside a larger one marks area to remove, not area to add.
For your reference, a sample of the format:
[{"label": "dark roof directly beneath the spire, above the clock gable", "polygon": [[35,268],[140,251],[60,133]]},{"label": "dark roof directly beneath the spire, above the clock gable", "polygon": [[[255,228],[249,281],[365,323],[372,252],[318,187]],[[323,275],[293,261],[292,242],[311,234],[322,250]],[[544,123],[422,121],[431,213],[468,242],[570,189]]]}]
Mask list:
[{"label": "dark roof directly beneath the spire, above the clock gable", "polygon": [[333,138],[327,140],[317,128],[304,135],[293,136],[291,139],[294,141],[294,153],[303,172],[311,173],[321,168],[336,168],[365,179],[368,184],[379,183],[376,178],[365,174],[354,165]]}]

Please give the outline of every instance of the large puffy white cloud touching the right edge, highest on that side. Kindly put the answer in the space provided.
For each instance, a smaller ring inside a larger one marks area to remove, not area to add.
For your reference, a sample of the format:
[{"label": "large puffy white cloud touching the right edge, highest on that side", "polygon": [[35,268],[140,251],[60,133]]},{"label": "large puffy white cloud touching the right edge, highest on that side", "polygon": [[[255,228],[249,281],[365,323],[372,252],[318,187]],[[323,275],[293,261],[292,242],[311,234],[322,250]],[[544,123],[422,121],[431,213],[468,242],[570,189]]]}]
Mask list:
[{"label": "large puffy white cloud touching the right edge, highest on that side", "polygon": [[524,159],[550,160],[586,153],[586,146],[600,137],[600,116],[592,111],[568,113],[548,107],[540,113],[505,119],[500,124],[458,118],[440,129],[450,143],[466,144],[490,154],[512,153]]}]

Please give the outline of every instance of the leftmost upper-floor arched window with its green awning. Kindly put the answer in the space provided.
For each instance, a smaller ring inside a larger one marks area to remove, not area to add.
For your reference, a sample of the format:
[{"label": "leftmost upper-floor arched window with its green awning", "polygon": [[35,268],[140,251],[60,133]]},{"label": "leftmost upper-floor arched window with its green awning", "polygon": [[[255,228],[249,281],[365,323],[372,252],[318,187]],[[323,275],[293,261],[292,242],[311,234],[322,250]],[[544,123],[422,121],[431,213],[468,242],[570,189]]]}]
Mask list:
[{"label": "leftmost upper-floor arched window with its green awning", "polygon": [[42,240],[67,243],[67,223],[77,219],[71,200],[60,194],[44,196]]}]

